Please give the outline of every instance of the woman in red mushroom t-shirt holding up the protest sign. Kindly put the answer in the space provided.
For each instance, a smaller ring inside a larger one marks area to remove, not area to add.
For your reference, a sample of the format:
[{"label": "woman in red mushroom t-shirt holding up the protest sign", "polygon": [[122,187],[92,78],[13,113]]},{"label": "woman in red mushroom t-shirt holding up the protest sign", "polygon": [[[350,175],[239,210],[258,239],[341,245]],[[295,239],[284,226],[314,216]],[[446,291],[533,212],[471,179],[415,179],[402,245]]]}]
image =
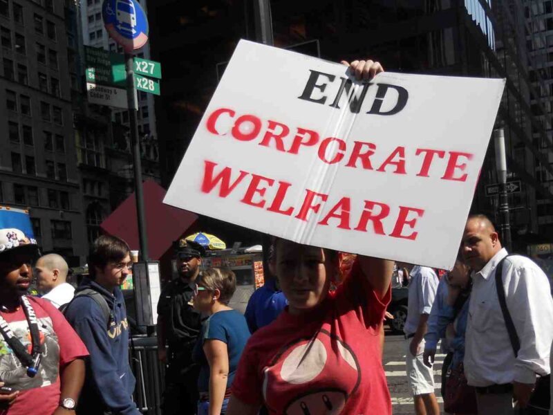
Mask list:
[{"label": "woman in red mushroom t-shirt holding up the protest sign", "polygon": [[[346,62],[344,62],[346,63]],[[357,79],[382,72],[351,64]],[[380,329],[393,262],[357,257],[336,291],[338,252],[277,239],[277,277],[289,306],[247,343],[227,415],[391,414]]]}]

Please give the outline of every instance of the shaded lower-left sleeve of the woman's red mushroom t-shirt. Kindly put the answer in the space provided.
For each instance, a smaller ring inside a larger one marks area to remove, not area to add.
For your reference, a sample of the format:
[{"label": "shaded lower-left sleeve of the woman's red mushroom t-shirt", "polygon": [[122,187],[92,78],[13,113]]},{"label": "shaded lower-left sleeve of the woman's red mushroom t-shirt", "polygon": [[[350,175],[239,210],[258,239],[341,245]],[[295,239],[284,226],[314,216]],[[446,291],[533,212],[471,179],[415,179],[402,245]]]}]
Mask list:
[{"label": "shaded lower-left sleeve of the woman's red mushroom t-shirt", "polygon": [[256,336],[252,335],[242,352],[238,369],[232,380],[232,394],[246,405],[263,404],[263,378],[259,370],[259,358],[254,351]]}]

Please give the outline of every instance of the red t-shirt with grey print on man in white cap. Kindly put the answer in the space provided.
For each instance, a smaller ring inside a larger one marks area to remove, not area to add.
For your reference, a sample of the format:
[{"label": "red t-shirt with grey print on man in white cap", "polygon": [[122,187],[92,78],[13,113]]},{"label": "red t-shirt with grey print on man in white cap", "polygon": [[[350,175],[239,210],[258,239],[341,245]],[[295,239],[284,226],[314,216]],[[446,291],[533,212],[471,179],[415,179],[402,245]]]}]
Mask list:
[{"label": "red t-shirt with grey print on man in white cap", "polygon": [[[62,313],[46,299],[30,297],[30,304],[39,320],[42,359],[39,373],[29,378],[26,367],[0,335],[0,379],[19,392],[13,405],[0,410],[0,415],[52,415],[61,395],[59,371],[88,351]],[[13,313],[0,313],[19,341],[31,349],[30,331],[23,308]]]}]

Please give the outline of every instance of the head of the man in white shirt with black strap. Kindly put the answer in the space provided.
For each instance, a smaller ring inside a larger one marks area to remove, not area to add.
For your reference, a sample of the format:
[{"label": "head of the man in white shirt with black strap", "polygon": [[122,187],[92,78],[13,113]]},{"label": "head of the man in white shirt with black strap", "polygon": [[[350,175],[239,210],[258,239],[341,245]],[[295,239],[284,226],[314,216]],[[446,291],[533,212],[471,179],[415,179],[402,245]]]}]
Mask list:
[{"label": "head of the man in white shirt with black strap", "polygon": [[466,263],[480,271],[501,250],[496,228],[484,214],[469,216],[462,235],[461,252]]}]

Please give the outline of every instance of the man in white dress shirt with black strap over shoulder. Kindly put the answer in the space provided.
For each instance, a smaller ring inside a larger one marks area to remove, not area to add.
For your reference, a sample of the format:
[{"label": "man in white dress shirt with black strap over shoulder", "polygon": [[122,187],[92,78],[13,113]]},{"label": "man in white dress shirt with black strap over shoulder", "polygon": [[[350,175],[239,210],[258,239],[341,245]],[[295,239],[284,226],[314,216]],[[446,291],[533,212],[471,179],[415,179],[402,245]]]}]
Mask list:
[{"label": "man in white dress shirt with black strap over shoulder", "polygon": [[513,396],[519,407],[525,407],[536,374],[550,373],[553,299],[549,282],[527,257],[508,257],[503,262],[507,308],[521,342],[515,357],[496,291],[496,267],[507,250],[486,216],[469,216],[461,248],[473,270],[465,374],[469,385],[476,387],[478,414],[514,414]]}]

